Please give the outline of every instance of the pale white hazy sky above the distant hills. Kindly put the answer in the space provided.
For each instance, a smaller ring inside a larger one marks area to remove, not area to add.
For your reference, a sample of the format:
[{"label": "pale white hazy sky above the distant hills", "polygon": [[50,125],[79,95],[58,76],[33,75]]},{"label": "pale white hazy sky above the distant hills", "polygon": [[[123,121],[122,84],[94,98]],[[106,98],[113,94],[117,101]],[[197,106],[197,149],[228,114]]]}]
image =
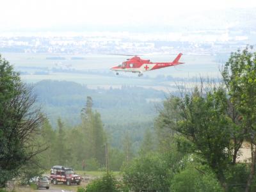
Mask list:
[{"label": "pale white hazy sky above the distant hills", "polygon": [[[255,0],[3,0],[0,31],[68,26],[129,26],[180,22],[182,15],[207,10],[255,8]],[[72,31],[72,29],[70,30]]]}]

